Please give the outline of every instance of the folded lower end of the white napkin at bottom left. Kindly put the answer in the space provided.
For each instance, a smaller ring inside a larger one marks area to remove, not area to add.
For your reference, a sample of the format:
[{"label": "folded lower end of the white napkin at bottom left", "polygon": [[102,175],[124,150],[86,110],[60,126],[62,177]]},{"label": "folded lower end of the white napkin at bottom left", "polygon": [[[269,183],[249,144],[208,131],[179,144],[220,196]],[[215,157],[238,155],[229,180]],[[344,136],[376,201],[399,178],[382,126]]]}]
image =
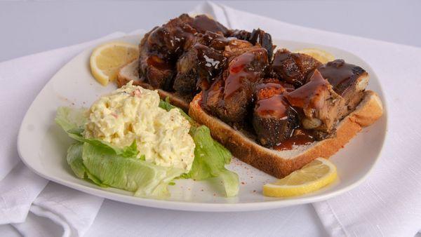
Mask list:
[{"label": "folded lower end of the white napkin at bottom left", "polygon": [[45,218],[30,218],[13,226],[23,236],[57,236],[51,229],[59,229],[61,232],[56,232],[61,236],[83,236],[98,214],[102,201],[103,198],[51,182],[29,209],[33,215]]}]

